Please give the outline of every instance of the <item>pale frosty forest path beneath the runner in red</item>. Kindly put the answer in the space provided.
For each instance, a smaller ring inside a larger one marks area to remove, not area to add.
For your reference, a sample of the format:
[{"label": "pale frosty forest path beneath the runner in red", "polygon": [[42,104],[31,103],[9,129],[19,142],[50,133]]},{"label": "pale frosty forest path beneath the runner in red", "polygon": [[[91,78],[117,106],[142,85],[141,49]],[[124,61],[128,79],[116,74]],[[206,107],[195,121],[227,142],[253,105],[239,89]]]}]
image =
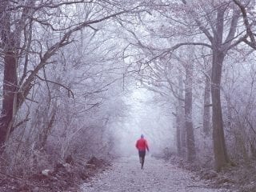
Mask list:
[{"label": "pale frosty forest path beneath the runner in red", "polygon": [[[113,166],[82,185],[82,192],[221,192],[210,189],[206,181],[170,163],[146,156],[145,167],[140,169],[138,157],[120,158]],[[233,190],[234,191],[234,190]]]}]

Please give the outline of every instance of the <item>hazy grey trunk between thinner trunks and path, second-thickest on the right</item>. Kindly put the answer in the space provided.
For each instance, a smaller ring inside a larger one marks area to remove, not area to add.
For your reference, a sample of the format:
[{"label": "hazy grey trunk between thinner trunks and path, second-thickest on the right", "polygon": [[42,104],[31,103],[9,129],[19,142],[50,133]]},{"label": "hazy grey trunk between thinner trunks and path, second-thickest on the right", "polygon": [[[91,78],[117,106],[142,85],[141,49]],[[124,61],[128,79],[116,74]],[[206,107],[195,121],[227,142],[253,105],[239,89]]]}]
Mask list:
[{"label": "hazy grey trunk between thinner trunks and path, second-thickest on the right", "polygon": [[193,162],[196,158],[194,146],[194,128],[192,122],[192,82],[193,66],[186,66],[186,84],[185,84],[185,126],[186,126],[186,149],[187,160]]}]

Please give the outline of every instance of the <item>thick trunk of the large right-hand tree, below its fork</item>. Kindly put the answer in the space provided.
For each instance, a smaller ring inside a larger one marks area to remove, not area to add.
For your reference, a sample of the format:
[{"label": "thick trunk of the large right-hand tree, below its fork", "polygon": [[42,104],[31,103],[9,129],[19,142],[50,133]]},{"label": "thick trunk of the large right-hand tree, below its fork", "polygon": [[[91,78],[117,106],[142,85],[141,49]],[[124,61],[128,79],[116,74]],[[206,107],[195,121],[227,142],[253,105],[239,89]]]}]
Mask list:
[{"label": "thick trunk of the large right-hand tree, below its fork", "polygon": [[212,85],[211,96],[213,105],[213,142],[214,142],[214,160],[216,170],[221,170],[230,162],[226,152],[226,142],[224,138],[222,105],[220,97],[220,84],[222,78],[222,63],[225,54],[221,50],[213,51],[212,65]]}]

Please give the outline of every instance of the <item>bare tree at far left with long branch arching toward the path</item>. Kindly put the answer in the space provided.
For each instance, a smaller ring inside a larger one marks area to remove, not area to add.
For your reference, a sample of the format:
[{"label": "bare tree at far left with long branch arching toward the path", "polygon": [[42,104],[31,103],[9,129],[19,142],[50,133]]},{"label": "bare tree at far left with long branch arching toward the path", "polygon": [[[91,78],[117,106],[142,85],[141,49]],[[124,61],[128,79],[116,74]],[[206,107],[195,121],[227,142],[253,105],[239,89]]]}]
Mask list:
[{"label": "bare tree at far left with long branch arching toward the path", "polygon": [[[68,10],[65,10],[66,7],[86,6],[88,4],[94,6],[97,13],[98,10],[102,10],[101,14],[94,14],[96,17],[86,18],[81,21],[78,19],[75,22],[66,22],[65,25],[61,24],[61,16],[68,21],[68,14],[70,13],[65,14],[65,11]],[[2,117],[0,119],[1,146],[4,145],[4,142],[8,140],[10,133],[14,130],[15,115],[30,94],[30,90],[34,86],[34,80],[38,78],[38,73],[47,64],[53,62],[51,59],[54,54],[57,54],[64,46],[73,42],[73,35],[77,31],[86,27],[95,30],[92,25],[134,10],[134,8],[130,10],[113,10],[108,9],[108,5],[107,2],[86,1],[61,1],[58,3],[40,1],[35,5],[35,2],[31,0],[17,3],[5,0],[2,3],[0,15],[1,47],[5,73],[3,78]],[[113,5],[111,4],[111,6]],[[38,18],[38,14],[42,14],[42,11],[46,11],[45,18]],[[54,11],[55,13],[53,14]],[[60,24],[56,25],[54,19],[50,19],[48,16],[54,17]],[[47,33],[52,31],[54,35],[58,34],[58,40],[51,43],[46,42],[46,45],[43,45],[40,39],[32,36],[31,30],[37,27],[42,30],[46,29]],[[34,50],[34,45],[31,45],[32,42],[39,45],[37,50]],[[33,54],[37,55],[38,60],[31,67],[29,66],[31,64],[30,57]],[[22,66],[23,72],[21,78],[18,79],[18,68],[20,66]],[[68,87],[63,87],[72,95],[72,91]]]}]

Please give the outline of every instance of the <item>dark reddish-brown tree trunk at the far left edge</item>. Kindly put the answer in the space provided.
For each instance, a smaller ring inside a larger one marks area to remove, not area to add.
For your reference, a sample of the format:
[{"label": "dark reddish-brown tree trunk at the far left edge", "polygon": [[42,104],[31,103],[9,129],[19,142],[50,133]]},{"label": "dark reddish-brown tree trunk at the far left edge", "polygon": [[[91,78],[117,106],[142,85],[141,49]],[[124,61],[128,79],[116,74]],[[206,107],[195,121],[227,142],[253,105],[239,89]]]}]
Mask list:
[{"label": "dark reddish-brown tree trunk at the far left edge", "polygon": [[3,99],[2,112],[0,117],[0,147],[3,150],[11,130],[13,118],[16,113],[17,101],[17,60],[15,37],[10,29],[10,14],[6,12],[9,1],[1,4],[0,13],[0,37],[2,40],[3,58],[4,58],[4,76],[3,76]]}]

